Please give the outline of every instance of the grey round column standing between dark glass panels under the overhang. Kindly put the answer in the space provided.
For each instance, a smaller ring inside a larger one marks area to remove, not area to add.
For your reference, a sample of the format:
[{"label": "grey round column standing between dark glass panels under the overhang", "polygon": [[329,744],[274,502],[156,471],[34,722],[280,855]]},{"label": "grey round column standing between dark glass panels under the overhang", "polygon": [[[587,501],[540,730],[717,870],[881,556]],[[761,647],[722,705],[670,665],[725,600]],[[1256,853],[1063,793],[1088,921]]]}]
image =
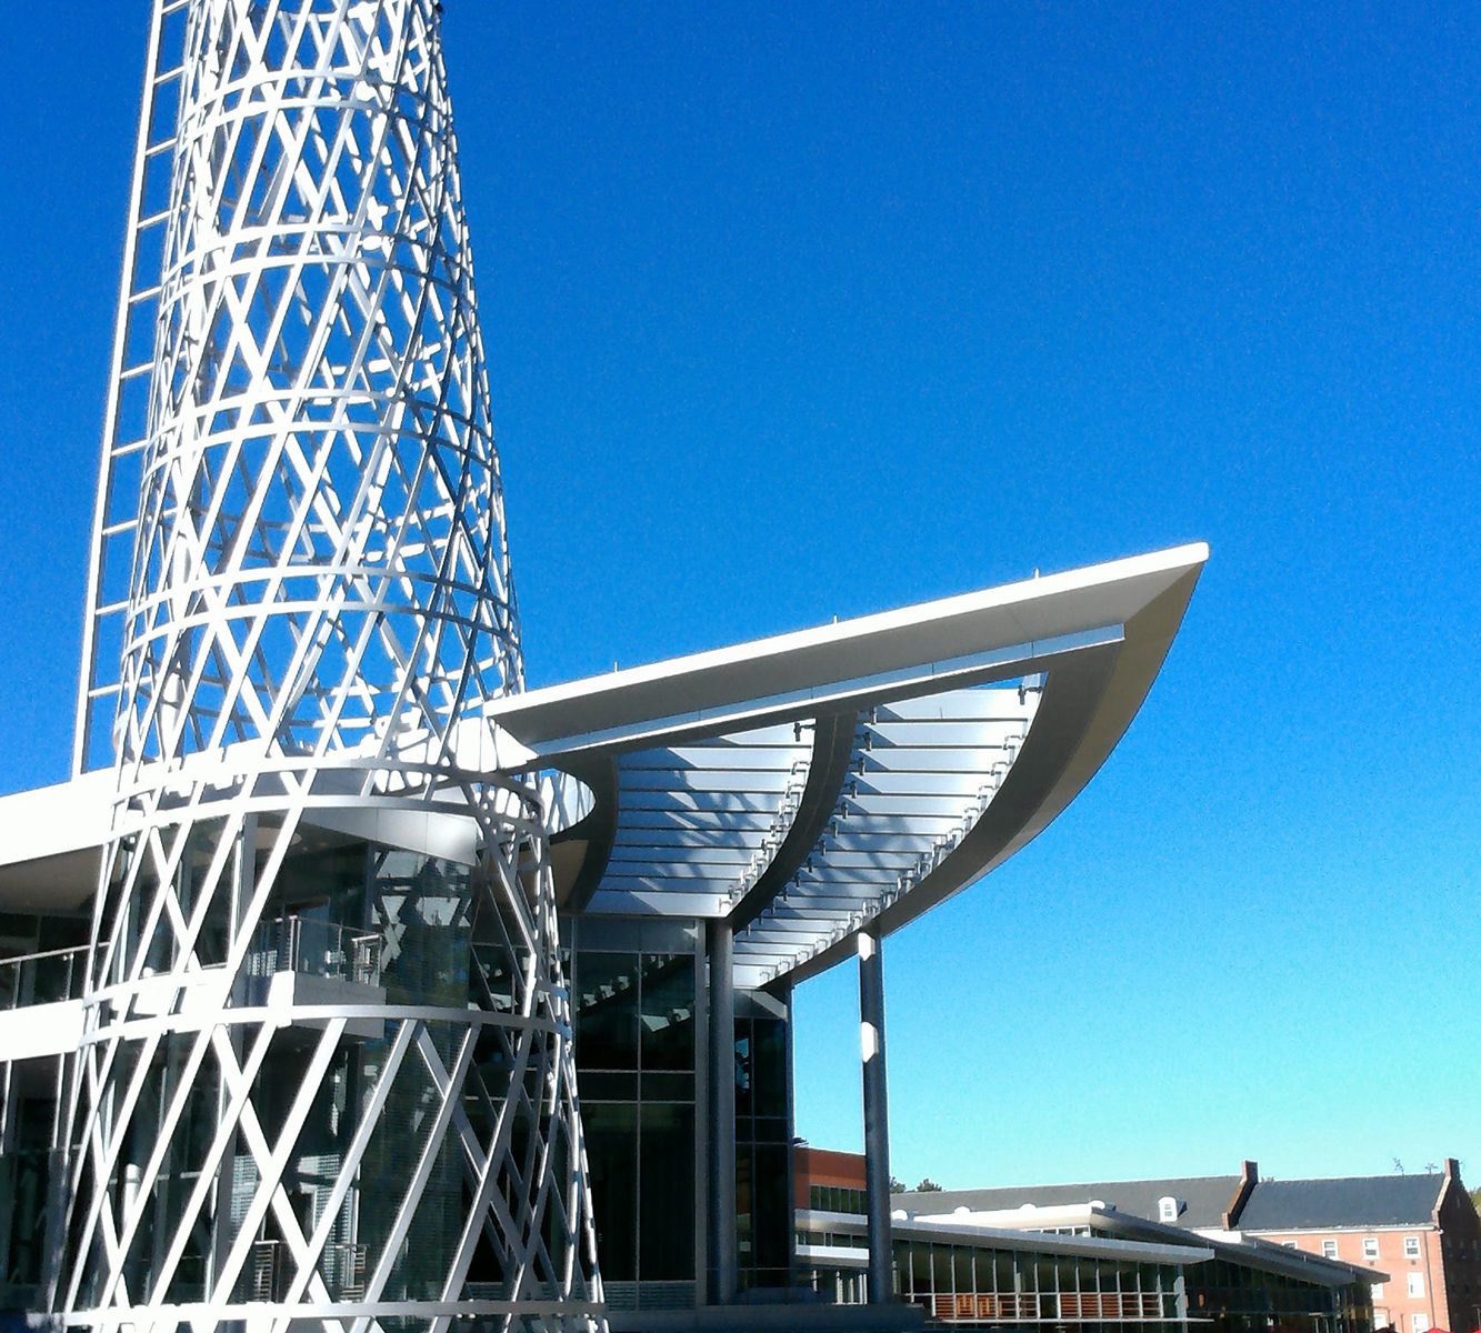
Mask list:
[{"label": "grey round column standing between dark glass panels under the overhang", "polygon": [[736,1294],[736,997],[735,932],[709,923],[709,1302]]}]

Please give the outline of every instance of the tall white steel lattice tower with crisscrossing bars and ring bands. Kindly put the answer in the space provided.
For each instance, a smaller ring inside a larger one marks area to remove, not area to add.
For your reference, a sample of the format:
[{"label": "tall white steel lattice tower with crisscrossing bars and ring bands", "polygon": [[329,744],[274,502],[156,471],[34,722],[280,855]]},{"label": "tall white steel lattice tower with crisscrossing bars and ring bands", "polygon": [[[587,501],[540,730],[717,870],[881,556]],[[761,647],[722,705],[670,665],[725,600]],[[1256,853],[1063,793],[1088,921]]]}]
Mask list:
[{"label": "tall white steel lattice tower with crisscrossing bars and ring bands", "polygon": [[521,662],[438,10],[156,0],[68,1324],[601,1323],[542,810],[483,718]]}]

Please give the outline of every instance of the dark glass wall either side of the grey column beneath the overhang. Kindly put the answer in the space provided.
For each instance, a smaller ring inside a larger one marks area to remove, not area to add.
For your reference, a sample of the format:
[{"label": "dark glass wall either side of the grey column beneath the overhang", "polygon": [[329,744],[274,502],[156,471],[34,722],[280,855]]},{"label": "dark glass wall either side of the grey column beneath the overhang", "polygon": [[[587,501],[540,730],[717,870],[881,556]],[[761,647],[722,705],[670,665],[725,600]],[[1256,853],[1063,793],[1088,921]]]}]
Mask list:
[{"label": "dark glass wall either side of the grey column beneath the overhang", "polygon": [[[693,918],[584,917],[572,1010],[597,1257],[612,1309],[689,1309],[705,1263],[705,949]],[[791,1281],[789,1007],[736,992],[742,1292]]]}]

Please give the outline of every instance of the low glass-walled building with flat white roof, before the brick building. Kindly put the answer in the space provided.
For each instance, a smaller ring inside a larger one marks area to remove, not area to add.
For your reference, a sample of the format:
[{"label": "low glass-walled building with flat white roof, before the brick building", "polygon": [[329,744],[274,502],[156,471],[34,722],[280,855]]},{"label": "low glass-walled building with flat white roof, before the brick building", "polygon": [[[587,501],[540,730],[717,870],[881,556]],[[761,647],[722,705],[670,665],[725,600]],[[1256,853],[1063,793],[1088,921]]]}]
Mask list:
[{"label": "low glass-walled building with flat white roof, before the brick building", "polygon": [[[862,1158],[801,1148],[797,1180],[800,1271],[832,1300],[862,1299]],[[1358,1265],[1103,1203],[983,1210],[951,1198],[895,1197],[895,1290],[929,1327],[1373,1330],[1373,1274]]]}]

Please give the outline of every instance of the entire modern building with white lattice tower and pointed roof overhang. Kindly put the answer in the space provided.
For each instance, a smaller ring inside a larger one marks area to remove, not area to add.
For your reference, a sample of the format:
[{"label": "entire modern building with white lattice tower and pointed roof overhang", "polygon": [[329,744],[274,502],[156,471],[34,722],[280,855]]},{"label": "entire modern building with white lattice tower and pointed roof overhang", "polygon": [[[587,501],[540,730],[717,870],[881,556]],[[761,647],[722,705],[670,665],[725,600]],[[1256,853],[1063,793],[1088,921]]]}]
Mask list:
[{"label": "entire modern building with white lattice tower and pointed roof overhang", "polygon": [[74,770],[0,798],[4,1300],[754,1327],[857,958],[905,1327],[883,943],[1090,781],[1207,549],[527,690],[440,15],[154,0]]}]

